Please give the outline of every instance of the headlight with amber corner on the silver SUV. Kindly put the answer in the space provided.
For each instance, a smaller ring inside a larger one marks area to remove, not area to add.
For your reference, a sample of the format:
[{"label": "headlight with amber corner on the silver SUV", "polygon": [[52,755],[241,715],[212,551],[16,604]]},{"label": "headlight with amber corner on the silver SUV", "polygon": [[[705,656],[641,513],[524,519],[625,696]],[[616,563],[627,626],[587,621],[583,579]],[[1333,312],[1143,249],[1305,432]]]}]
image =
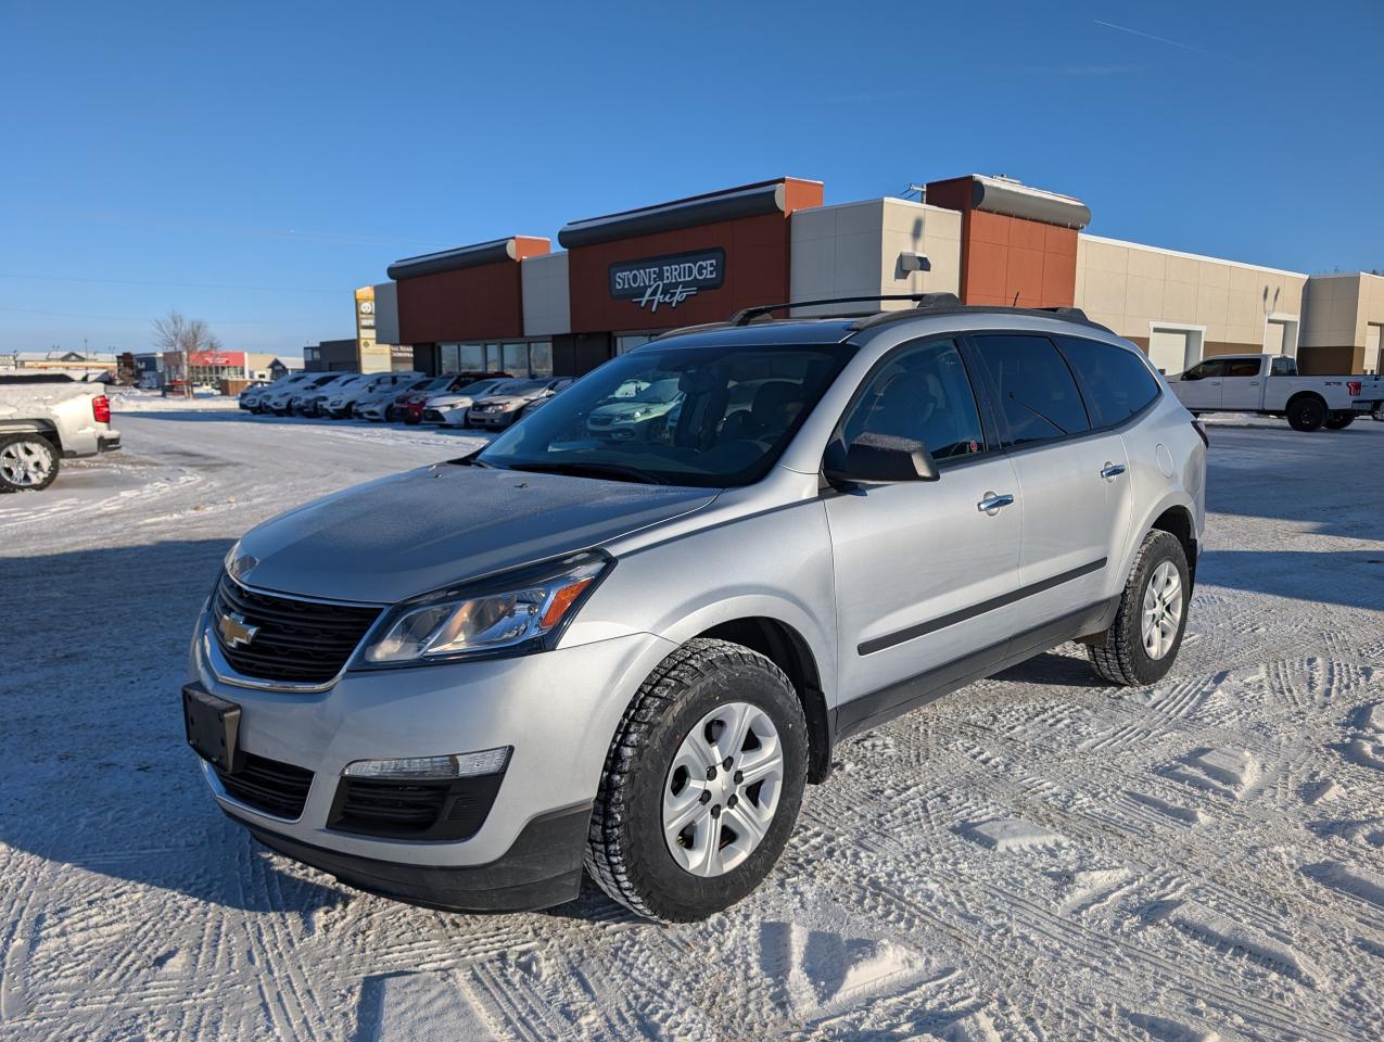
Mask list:
[{"label": "headlight with amber corner on the silver SUV", "polygon": [[577,554],[399,605],[361,664],[418,666],[551,648],[612,563],[605,554]]}]

